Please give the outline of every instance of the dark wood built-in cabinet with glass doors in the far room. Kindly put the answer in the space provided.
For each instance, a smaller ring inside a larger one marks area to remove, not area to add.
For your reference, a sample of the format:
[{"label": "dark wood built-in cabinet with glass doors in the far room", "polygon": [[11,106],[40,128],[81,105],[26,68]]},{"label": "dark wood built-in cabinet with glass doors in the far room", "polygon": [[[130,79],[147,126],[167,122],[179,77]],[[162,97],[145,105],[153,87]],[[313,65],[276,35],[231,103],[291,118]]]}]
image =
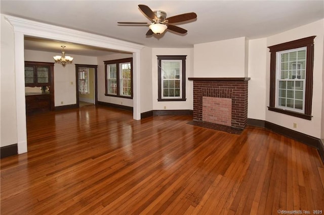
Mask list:
[{"label": "dark wood built-in cabinet with glass doors in the far room", "polygon": [[54,111],[54,63],[25,62],[25,86],[42,92],[26,93],[26,114]]}]

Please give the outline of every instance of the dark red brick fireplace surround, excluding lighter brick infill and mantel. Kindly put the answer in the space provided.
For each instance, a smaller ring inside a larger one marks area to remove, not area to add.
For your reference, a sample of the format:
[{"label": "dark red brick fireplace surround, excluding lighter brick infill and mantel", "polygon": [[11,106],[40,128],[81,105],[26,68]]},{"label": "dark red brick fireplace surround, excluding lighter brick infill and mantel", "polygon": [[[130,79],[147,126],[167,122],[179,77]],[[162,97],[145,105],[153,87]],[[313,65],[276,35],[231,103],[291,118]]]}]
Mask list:
[{"label": "dark red brick fireplace surround, excluding lighter brick infill and mantel", "polygon": [[[203,120],[203,97],[231,98],[231,127],[248,121],[248,81],[193,81],[193,120]],[[207,122],[207,121],[206,121]]]}]

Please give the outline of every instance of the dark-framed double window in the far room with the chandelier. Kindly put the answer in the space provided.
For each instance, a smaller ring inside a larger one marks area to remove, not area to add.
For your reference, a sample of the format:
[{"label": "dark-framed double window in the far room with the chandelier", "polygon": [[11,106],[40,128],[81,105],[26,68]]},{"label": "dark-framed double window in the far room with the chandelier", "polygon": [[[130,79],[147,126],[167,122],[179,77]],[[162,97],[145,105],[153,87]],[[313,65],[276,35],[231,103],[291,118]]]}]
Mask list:
[{"label": "dark-framed double window in the far room with the chandelier", "polygon": [[133,98],[133,59],[104,61],[107,96]]}]

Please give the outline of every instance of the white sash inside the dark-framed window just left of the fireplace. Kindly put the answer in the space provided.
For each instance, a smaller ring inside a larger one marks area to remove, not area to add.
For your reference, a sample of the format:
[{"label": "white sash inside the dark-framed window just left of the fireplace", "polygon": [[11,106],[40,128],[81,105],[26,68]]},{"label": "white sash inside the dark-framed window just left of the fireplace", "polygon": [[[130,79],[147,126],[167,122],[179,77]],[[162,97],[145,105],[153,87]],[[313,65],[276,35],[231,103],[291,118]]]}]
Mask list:
[{"label": "white sash inside the dark-framed window just left of the fireplace", "polygon": [[[179,67],[168,68],[169,63]],[[161,89],[163,99],[182,98],[182,60],[161,60]]]}]

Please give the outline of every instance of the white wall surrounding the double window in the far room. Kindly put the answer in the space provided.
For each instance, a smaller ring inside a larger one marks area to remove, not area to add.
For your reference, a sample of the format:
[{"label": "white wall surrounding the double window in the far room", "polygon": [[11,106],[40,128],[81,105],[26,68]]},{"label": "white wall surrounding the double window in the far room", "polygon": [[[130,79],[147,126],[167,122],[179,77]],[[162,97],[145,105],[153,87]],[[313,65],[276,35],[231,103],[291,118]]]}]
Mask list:
[{"label": "white wall surrounding the double window in the far room", "polygon": [[124,58],[132,58],[132,53],[116,53],[107,56],[98,57],[98,101],[125,105],[125,106],[133,106],[133,99],[129,98],[119,98],[113,96],[106,96],[105,91],[105,64],[104,61],[111,61],[117,59],[124,59]]}]

